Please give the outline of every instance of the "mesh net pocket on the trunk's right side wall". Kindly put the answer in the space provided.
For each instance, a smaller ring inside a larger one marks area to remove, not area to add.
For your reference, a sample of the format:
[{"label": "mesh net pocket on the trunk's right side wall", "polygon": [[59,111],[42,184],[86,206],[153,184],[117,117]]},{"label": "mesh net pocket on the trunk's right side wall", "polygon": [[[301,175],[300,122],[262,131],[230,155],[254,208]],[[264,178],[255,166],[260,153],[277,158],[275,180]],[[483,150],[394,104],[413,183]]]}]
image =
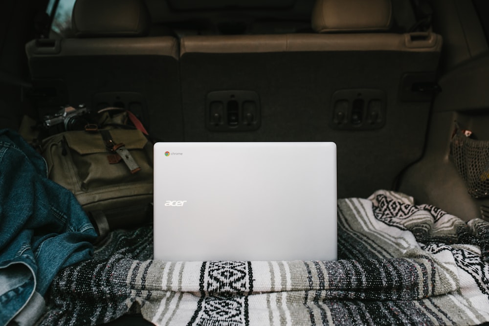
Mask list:
[{"label": "mesh net pocket on the trunk's right side wall", "polygon": [[453,162],[470,196],[489,197],[489,140],[471,139],[457,130],[450,147]]}]

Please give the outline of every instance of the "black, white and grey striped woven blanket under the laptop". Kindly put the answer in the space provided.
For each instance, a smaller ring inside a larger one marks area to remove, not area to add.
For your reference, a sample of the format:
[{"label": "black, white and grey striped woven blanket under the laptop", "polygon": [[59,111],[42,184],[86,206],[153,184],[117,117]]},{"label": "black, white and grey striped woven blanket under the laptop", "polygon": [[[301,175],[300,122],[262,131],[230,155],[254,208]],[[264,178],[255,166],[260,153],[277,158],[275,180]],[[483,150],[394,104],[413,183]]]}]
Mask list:
[{"label": "black, white and grey striped woven blanket under the laptop", "polygon": [[92,261],[57,276],[39,324],[126,313],[156,325],[489,321],[489,223],[399,193],[338,200],[338,261],[154,261],[152,237],[151,226],[112,232]]}]

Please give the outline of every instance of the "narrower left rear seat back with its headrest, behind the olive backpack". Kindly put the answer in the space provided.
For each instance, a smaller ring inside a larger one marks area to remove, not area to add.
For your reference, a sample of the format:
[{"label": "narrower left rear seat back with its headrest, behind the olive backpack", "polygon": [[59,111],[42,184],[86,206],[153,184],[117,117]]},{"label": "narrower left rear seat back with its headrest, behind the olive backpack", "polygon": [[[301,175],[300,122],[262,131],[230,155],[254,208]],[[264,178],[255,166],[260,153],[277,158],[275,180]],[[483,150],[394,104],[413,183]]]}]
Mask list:
[{"label": "narrower left rear seat back with its headrest, behind the olive backpack", "polygon": [[75,38],[26,45],[44,113],[67,104],[124,107],[156,139],[182,140],[178,40],[148,37],[150,24],[142,0],[77,0]]}]

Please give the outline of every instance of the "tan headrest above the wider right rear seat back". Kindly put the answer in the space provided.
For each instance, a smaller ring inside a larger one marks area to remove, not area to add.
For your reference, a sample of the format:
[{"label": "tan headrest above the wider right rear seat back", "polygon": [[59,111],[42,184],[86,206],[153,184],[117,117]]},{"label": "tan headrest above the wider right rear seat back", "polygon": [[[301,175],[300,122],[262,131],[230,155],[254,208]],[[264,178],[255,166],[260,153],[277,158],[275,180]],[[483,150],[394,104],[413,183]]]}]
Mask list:
[{"label": "tan headrest above the wider right rear seat back", "polygon": [[312,29],[327,32],[372,32],[389,30],[391,0],[316,0]]}]

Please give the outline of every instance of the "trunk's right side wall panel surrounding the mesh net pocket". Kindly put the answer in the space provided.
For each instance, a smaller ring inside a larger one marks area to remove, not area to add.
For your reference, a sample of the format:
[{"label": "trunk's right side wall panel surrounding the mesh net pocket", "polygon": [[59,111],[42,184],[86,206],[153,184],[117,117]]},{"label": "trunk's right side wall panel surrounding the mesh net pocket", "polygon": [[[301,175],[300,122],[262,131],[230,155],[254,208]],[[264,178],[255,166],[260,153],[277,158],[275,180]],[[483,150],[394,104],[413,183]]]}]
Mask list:
[{"label": "trunk's right side wall panel surrounding the mesh net pocket", "polygon": [[[453,156],[451,145],[457,129],[470,130],[481,143],[489,139],[488,67],[489,57],[483,55],[459,65],[440,79],[440,87],[444,91],[434,102],[425,155],[406,171],[400,185],[400,191],[465,220],[487,217],[489,201],[468,194],[469,180],[464,180],[457,171],[454,161],[460,158]],[[467,97],[461,98],[458,95],[460,91]],[[480,154],[484,152],[481,148]],[[476,164],[475,159],[473,156],[464,157],[467,166]],[[444,191],[446,189],[450,191]]]}]

